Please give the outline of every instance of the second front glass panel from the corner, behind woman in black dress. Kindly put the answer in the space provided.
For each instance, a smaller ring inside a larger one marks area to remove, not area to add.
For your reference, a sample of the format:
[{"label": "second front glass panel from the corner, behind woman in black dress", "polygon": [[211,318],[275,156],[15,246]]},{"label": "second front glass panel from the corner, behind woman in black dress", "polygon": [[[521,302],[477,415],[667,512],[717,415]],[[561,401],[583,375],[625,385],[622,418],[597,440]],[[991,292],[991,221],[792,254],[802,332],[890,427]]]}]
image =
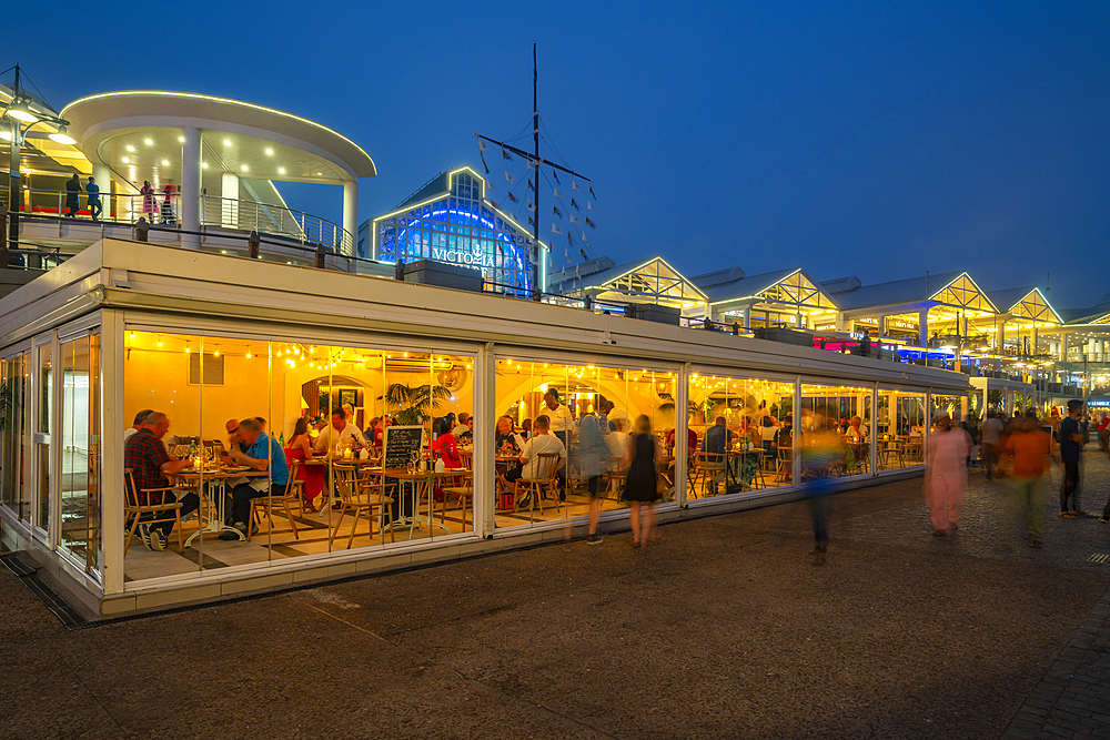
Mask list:
[{"label": "second front glass panel from the corner, behind woman in black dress", "polygon": [[653,436],[660,497],[673,499],[676,372],[498,358],[494,525],[587,515],[592,499],[625,508],[637,434]]}]

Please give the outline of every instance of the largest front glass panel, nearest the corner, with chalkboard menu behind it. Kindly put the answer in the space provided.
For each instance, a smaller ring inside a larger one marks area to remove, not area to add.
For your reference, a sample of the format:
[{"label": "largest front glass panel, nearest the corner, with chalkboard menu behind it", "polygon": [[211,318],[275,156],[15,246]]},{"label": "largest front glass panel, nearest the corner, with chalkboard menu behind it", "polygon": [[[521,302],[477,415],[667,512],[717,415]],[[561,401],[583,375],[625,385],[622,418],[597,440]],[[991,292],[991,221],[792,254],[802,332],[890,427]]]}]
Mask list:
[{"label": "largest front glass panel, nearest the corner, with chalkboard menu behind it", "polygon": [[[168,415],[174,490],[158,498],[188,514],[183,551],[173,511],[153,549],[137,528],[127,579],[473,531],[460,423],[472,356],[148,332],[125,342],[125,415]],[[435,476],[438,459],[457,473]]]}]

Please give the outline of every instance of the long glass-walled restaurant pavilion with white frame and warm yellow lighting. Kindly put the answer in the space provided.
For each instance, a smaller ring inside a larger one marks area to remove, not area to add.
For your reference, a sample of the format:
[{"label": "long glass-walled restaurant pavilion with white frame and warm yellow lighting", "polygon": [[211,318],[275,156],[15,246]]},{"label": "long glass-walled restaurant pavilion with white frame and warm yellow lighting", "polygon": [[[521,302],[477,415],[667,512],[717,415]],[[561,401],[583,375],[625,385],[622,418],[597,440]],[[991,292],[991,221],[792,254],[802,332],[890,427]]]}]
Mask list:
[{"label": "long glass-walled restaurant pavilion with white frame and warm yellow lighting", "polygon": [[[0,301],[0,347],[3,543],[105,615],[584,533],[592,485],[622,527],[637,429],[659,439],[665,520],[797,496],[807,435],[830,420],[850,420],[835,475],[915,475],[930,413],[968,393],[937,368],[114,240]],[[132,534],[124,433],[148,409],[193,463],[168,475],[172,495],[201,503],[163,550]],[[450,445],[447,414],[473,419]],[[339,432],[386,416],[386,456],[407,430],[444,469],[383,466],[372,432]],[[565,462],[505,485],[504,443],[539,416]],[[279,440],[266,472],[221,464],[229,422]],[[280,463],[299,425],[315,452]],[[245,536],[226,524],[242,476],[272,481]]]}]

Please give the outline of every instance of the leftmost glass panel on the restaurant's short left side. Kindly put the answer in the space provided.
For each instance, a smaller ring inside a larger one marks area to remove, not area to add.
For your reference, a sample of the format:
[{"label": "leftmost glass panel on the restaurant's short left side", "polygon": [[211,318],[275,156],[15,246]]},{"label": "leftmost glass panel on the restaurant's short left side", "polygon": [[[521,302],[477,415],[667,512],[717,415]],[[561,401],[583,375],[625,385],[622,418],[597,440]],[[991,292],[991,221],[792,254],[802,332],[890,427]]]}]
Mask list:
[{"label": "leftmost glass panel on the restaurant's short left side", "polygon": [[24,465],[29,462],[30,445],[26,425],[28,353],[0,362],[0,480],[3,486],[3,505],[28,524],[31,521],[30,486],[24,484]]}]

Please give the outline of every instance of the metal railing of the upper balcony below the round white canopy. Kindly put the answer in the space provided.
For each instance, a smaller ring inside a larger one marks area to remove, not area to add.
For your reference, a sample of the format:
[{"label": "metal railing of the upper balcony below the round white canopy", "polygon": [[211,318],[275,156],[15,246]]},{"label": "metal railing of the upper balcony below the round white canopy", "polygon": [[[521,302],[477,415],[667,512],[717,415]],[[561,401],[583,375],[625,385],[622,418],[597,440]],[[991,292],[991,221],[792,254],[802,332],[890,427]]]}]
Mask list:
[{"label": "metal railing of the upper balcony below the round white canopy", "polygon": [[[8,204],[8,189],[0,189]],[[145,219],[150,224],[181,227],[180,193],[101,193],[100,207],[90,204],[87,192],[23,189],[19,213],[38,217],[91,220],[94,222],[134,224]],[[240,201],[232,197],[202,195],[201,226],[230,231],[270,234],[301,244],[323,244],[335,252],[354,255],[354,236],[339,224],[284,205]]]}]

